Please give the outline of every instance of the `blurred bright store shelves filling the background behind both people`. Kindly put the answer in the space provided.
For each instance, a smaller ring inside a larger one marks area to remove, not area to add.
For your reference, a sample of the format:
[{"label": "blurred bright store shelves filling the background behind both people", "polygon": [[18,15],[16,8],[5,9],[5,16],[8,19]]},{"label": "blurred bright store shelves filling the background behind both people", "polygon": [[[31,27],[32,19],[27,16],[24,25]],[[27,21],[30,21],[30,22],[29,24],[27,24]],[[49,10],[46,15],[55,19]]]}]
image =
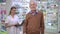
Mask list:
[{"label": "blurred bright store shelves filling the background behind both people", "polygon": [[[43,11],[45,34],[60,34],[60,0],[35,0],[37,9]],[[26,14],[30,11],[30,0],[0,0],[0,34],[6,34],[6,30],[2,28],[1,20],[6,20],[10,8],[17,8],[20,22],[25,19]],[[23,34],[23,26],[20,26],[20,33]]]}]

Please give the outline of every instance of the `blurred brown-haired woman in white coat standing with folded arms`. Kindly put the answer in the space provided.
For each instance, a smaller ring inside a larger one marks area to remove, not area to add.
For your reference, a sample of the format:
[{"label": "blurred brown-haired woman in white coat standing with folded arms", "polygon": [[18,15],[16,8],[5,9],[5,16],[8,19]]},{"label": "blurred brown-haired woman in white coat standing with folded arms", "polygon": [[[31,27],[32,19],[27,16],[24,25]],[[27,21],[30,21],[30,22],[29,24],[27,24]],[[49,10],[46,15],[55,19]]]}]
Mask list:
[{"label": "blurred brown-haired woman in white coat standing with folded arms", "polygon": [[15,15],[16,7],[11,7],[9,16],[6,19],[6,29],[7,34],[20,34],[19,28],[17,25],[19,24],[19,18]]}]

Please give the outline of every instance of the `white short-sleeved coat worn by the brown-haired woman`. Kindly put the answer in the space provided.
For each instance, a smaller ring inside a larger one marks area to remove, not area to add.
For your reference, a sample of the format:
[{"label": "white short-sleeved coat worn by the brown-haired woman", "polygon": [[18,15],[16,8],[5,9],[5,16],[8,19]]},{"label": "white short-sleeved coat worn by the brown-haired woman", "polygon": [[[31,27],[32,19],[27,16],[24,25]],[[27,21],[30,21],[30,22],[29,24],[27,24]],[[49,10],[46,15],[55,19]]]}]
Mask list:
[{"label": "white short-sleeved coat worn by the brown-haired woman", "polygon": [[[19,18],[17,15],[14,15],[14,18],[12,18],[11,15],[7,16],[6,22],[9,23],[10,25],[16,24],[19,22]],[[11,26],[6,28],[7,29],[7,34],[20,34],[20,30],[18,27]]]}]

